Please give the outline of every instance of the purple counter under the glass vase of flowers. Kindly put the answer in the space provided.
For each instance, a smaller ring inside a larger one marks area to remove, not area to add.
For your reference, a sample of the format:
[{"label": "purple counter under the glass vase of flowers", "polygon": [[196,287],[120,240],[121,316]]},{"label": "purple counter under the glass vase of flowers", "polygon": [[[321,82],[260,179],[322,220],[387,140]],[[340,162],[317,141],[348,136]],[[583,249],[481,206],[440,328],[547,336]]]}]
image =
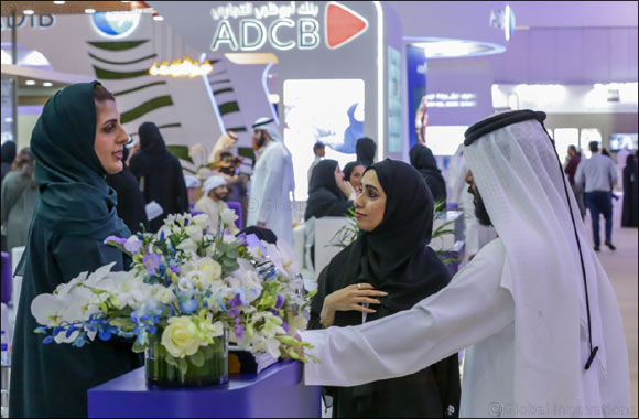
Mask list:
[{"label": "purple counter under the glass vase of flowers", "polygon": [[284,361],[219,386],[156,387],[142,367],[91,388],[89,418],[320,418],[321,387],[305,386],[302,368]]}]

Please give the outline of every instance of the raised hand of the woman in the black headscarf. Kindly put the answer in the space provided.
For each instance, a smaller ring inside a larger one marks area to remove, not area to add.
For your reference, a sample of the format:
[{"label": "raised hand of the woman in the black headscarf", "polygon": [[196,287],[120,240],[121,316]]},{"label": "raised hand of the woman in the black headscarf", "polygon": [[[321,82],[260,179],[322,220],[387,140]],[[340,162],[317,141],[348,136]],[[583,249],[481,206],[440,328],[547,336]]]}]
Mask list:
[{"label": "raised hand of the woman in the black headscarf", "polygon": [[380,301],[375,297],[385,297],[387,294],[387,292],[377,291],[370,283],[348,286],[326,296],[320,321],[324,327],[329,327],[335,321],[336,311],[355,310],[362,313],[375,313],[376,310],[359,305],[359,303],[380,304]]}]

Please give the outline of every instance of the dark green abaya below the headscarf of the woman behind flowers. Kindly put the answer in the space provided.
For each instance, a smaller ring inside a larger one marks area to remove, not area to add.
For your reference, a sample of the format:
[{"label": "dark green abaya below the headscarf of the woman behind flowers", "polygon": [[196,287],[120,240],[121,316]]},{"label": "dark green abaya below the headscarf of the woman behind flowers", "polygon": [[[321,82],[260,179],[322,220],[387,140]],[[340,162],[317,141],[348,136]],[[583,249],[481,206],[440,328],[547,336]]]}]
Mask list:
[{"label": "dark green abaya below the headscarf of the woman behind flowers", "polygon": [[42,344],[43,336],[31,315],[31,302],[43,292],[68,282],[78,273],[93,272],[116,261],[122,269],[122,254],[99,240],[52,234],[40,224],[32,230],[30,257],[13,340],[11,417],[87,417],[87,390],[142,365],[131,343],[111,339],[83,347]]}]

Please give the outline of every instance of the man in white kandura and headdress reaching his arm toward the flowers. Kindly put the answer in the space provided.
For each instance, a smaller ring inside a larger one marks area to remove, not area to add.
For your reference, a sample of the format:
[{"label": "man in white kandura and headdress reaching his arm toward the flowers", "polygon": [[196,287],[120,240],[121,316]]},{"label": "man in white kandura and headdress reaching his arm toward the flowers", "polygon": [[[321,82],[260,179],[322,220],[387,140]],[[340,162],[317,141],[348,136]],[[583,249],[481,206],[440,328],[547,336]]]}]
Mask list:
[{"label": "man in white kandura and headdress reaching his arm toward the flowers", "polygon": [[467,348],[461,416],[631,415],[617,300],[544,118],[519,110],[466,131],[467,181],[498,238],[411,310],[302,332],[321,361],[306,385],[399,377]]}]

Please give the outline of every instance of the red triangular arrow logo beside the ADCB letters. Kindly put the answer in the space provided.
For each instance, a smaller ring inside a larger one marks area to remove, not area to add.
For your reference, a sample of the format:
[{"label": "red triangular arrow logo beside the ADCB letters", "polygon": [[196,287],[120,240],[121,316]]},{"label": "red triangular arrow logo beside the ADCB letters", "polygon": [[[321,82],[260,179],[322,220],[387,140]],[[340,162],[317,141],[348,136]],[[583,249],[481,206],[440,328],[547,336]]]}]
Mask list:
[{"label": "red triangular arrow logo beside the ADCB letters", "polygon": [[353,41],[368,29],[368,21],[365,18],[336,1],[331,1],[326,6],[324,21],[326,46],[331,50]]}]

